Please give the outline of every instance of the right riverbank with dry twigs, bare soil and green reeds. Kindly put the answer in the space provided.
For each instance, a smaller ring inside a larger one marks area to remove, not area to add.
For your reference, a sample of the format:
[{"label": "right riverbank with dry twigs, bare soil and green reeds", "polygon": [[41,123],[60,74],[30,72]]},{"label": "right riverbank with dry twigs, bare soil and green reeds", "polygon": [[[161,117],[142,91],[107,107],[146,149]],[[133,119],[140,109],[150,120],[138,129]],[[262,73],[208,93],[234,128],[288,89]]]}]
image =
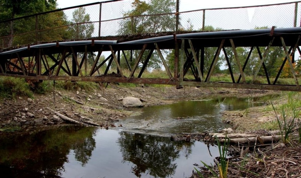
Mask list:
[{"label": "right riverbank with dry twigs, bare soil and green reeds", "polygon": [[[265,106],[222,113],[222,120],[233,126],[231,135],[242,135],[240,140],[245,140],[228,147],[229,158],[225,158],[228,177],[301,177],[300,99],[297,92],[282,92]],[[244,136],[246,133],[255,139],[246,138],[250,137]],[[263,141],[263,136],[272,139]],[[199,168],[204,177],[219,174],[217,166],[212,171]],[[194,173],[191,178],[203,177],[200,173]]]}]

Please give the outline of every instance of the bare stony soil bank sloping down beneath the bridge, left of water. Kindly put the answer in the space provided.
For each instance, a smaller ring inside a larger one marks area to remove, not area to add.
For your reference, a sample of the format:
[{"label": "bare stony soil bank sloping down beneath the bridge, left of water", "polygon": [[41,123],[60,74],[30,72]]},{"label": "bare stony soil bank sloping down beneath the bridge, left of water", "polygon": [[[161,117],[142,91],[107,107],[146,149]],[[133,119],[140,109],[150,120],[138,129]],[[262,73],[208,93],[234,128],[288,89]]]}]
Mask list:
[{"label": "bare stony soil bank sloping down beneath the bridge, left of water", "polygon": [[201,99],[215,94],[247,95],[262,92],[266,91],[196,87],[177,90],[175,87],[119,87],[116,84],[100,87],[93,92],[80,88],[77,91],[56,90],[54,93],[35,94],[32,102],[27,97],[3,99],[0,103],[0,127],[18,126],[21,131],[30,131],[63,124],[61,118],[54,116],[53,110],[76,121],[94,122],[103,128],[116,127],[114,122],[131,114],[131,108],[124,107],[122,101],[118,100],[122,97],[137,97],[143,100],[144,106],[151,106]]}]

